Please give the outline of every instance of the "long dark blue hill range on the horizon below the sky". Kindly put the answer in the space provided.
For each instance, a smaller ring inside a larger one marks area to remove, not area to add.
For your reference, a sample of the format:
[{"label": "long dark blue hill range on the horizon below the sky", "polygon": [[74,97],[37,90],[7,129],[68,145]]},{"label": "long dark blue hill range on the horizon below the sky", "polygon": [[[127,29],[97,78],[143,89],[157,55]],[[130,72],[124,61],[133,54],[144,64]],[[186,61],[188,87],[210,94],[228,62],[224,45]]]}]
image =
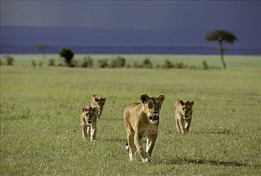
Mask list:
[{"label": "long dark blue hill range on the horizon below the sky", "polygon": [[[1,53],[39,53],[35,44],[47,44],[46,53],[70,47],[75,53],[219,54],[217,43],[204,41],[204,31],[132,31],[81,27],[1,26]],[[261,55],[261,48],[228,45],[227,54]]]}]

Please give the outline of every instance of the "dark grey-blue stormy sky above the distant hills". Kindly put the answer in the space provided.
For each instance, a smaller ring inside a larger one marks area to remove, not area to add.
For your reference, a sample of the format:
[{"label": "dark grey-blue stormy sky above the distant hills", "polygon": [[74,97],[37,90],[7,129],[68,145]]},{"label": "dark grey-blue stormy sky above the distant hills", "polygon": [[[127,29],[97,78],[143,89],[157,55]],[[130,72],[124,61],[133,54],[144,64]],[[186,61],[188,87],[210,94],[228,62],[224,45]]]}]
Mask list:
[{"label": "dark grey-blue stormy sky above the distant hills", "polygon": [[[1,26],[182,31],[226,29],[260,47],[261,1],[1,1]],[[240,43],[241,42],[241,43]]]}]

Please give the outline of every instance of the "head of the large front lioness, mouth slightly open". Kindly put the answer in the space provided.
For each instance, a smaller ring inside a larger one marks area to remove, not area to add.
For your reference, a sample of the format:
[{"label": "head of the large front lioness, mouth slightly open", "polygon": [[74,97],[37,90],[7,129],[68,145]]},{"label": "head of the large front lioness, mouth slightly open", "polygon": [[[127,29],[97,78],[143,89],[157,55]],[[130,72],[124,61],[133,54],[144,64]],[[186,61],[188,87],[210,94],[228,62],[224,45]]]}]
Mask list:
[{"label": "head of the large front lioness, mouth slightly open", "polygon": [[147,114],[149,121],[151,123],[157,123],[160,118],[160,110],[162,103],[165,100],[165,96],[161,94],[158,97],[149,97],[147,94],[142,94],[140,100],[144,105],[144,111]]}]

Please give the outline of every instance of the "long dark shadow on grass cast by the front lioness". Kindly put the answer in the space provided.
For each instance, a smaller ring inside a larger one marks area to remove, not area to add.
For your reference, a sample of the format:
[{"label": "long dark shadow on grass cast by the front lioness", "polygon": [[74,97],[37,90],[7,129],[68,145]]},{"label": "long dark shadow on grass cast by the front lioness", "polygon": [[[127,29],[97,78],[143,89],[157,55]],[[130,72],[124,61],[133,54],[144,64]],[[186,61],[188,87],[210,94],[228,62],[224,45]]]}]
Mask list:
[{"label": "long dark shadow on grass cast by the front lioness", "polygon": [[212,164],[212,165],[224,165],[224,166],[250,166],[250,167],[258,167],[257,165],[250,165],[247,163],[240,163],[238,161],[218,161],[218,160],[205,160],[205,159],[191,159],[191,158],[170,158],[169,160],[161,160],[158,163],[164,164],[184,164],[184,163],[193,163],[193,164]]}]

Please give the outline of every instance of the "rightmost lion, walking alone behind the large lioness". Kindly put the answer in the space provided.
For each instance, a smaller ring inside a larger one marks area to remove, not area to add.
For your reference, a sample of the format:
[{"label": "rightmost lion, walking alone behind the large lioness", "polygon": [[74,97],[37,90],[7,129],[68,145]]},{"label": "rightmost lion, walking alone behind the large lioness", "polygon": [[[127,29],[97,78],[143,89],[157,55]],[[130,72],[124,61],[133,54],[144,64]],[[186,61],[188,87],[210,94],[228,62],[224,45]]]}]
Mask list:
[{"label": "rightmost lion, walking alone behind the large lioness", "polygon": [[192,107],[194,105],[193,101],[182,101],[179,100],[175,103],[175,120],[176,128],[179,133],[188,133],[190,122],[192,119]]}]

